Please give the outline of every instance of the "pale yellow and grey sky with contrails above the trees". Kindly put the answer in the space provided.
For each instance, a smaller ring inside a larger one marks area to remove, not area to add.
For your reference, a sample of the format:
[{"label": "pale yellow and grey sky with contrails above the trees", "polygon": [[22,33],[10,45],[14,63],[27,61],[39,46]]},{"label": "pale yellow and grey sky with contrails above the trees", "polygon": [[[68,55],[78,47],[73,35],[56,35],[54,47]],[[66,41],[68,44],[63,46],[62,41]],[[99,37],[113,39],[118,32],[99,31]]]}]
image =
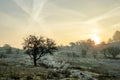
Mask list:
[{"label": "pale yellow and grey sky with contrails above the trees", "polygon": [[107,41],[120,30],[120,0],[0,0],[0,46],[22,48],[28,35],[57,44]]}]

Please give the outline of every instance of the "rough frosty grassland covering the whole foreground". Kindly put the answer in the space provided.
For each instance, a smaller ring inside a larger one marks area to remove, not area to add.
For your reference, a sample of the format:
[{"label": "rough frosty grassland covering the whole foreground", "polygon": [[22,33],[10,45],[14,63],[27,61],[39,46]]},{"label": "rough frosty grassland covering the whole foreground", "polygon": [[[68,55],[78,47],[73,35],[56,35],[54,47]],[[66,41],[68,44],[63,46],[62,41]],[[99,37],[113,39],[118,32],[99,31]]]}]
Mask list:
[{"label": "rough frosty grassland covering the whole foreground", "polygon": [[[53,58],[53,57],[52,57]],[[38,62],[38,67],[19,59],[0,59],[0,80],[119,80],[120,60],[91,58],[60,58]],[[52,61],[62,65],[54,67]],[[64,64],[62,64],[64,63]],[[69,64],[67,68],[64,65]],[[88,78],[80,78],[83,74]],[[71,76],[72,75],[72,76]],[[74,75],[74,76],[73,76]]]}]

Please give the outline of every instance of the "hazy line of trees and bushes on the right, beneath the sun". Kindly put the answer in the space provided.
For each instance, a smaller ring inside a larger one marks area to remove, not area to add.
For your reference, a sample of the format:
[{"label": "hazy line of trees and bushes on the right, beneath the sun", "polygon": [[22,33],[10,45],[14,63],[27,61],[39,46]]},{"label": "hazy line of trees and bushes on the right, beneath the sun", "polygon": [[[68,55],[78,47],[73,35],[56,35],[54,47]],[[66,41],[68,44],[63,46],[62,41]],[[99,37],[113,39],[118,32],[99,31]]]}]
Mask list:
[{"label": "hazy line of trees and bushes on the right, beneath the sun", "polygon": [[100,44],[95,45],[95,42],[91,39],[80,40],[77,42],[71,42],[69,46],[61,46],[60,49],[68,54],[68,56],[72,57],[73,55],[70,54],[74,53],[74,55],[76,55],[75,57],[85,58],[87,56],[90,57],[91,54],[93,58],[100,57],[116,59],[119,58],[120,55],[120,31],[116,31],[111,41],[108,42],[101,42]]}]

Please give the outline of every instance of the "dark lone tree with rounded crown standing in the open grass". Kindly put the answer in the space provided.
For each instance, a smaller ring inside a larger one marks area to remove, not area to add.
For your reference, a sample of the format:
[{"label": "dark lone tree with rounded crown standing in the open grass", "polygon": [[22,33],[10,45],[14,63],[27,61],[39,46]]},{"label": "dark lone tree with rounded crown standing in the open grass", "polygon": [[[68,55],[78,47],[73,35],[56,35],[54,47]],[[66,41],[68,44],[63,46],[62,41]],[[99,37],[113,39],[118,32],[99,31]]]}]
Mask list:
[{"label": "dark lone tree with rounded crown standing in the open grass", "polygon": [[24,39],[23,49],[37,66],[37,60],[46,54],[53,54],[57,47],[52,39],[29,35]]}]

